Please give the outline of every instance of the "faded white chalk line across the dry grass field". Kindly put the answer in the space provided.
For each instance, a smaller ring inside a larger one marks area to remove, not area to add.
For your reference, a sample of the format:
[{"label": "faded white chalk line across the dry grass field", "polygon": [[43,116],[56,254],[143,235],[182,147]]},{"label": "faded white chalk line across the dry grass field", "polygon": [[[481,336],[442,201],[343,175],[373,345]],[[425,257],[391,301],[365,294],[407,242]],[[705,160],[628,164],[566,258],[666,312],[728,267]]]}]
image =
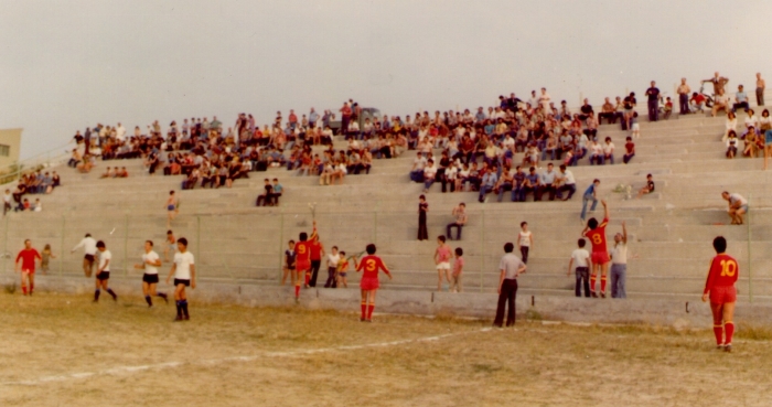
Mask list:
[{"label": "faded white chalk line across the dry grass field", "polygon": [[36,385],[41,385],[41,384],[45,384],[45,383],[65,382],[65,381],[71,381],[71,379],[87,378],[87,377],[97,376],[97,375],[118,375],[121,373],[135,373],[135,372],[144,372],[144,371],[149,371],[149,369],[179,367],[179,366],[182,366],[184,364],[214,365],[214,364],[221,364],[221,363],[225,363],[225,362],[253,362],[253,361],[256,361],[256,360],[262,358],[262,357],[291,357],[291,356],[312,355],[312,354],[317,354],[317,353],[328,353],[328,352],[337,352],[337,351],[356,351],[356,350],[368,349],[368,347],[397,346],[397,345],[404,345],[404,344],[408,344],[408,343],[440,341],[440,340],[443,340],[443,339],[450,338],[450,336],[460,336],[460,335],[468,335],[471,333],[489,332],[491,330],[492,330],[491,328],[483,328],[483,329],[476,330],[476,331],[446,333],[443,335],[425,336],[425,338],[418,338],[418,339],[412,339],[412,340],[366,343],[366,344],[362,344],[362,345],[343,345],[343,346],[334,346],[334,347],[321,347],[321,349],[310,349],[310,350],[288,351],[288,352],[266,352],[266,353],[262,353],[259,355],[251,355],[251,356],[230,356],[230,357],[223,357],[223,358],[199,360],[199,361],[192,361],[192,362],[165,362],[165,363],[157,363],[157,364],[152,364],[152,365],[117,366],[117,367],[111,367],[111,368],[98,371],[98,372],[81,372],[81,373],[71,373],[71,374],[56,375],[56,376],[43,376],[43,377],[32,379],[32,381],[2,382],[2,383],[0,383],[0,386],[36,386]]}]

